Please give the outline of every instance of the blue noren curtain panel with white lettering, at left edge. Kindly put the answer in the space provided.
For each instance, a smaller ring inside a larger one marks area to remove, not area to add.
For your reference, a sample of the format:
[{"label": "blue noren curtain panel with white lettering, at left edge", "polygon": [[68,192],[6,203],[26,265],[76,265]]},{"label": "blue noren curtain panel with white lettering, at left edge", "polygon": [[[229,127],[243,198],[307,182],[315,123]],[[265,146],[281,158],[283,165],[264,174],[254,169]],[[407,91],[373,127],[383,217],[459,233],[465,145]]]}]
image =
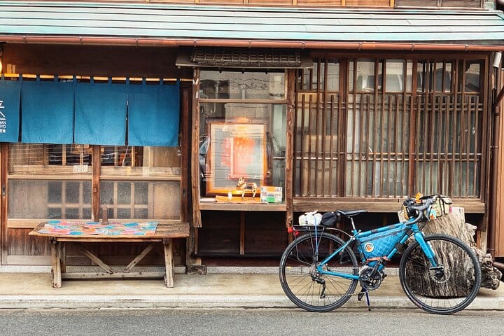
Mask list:
[{"label": "blue noren curtain panel with white lettering, at left edge", "polygon": [[0,142],[18,142],[21,85],[0,80]]}]

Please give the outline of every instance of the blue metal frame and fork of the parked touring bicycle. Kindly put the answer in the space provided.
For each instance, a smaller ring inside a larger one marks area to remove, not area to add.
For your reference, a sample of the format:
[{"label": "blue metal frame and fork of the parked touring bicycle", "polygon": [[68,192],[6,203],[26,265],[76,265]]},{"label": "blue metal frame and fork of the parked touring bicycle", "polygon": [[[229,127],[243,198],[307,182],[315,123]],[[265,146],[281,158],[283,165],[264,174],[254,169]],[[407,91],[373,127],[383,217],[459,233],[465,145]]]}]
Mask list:
[{"label": "blue metal frame and fork of the parked touring bicycle", "polygon": [[[332,275],[332,276],[339,276],[344,279],[358,280],[360,278],[360,275],[332,272],[332,271],[323,269],[323,267],[332,258],[335,258],[335,256],[338,255],[341,251],[344,251],[346,246],[349,246],[353,241],[360,241],[361,238],[368,237],[368,236],[370,236],[374,233],[377,233],[377,232],[387,232],[389,230],[394,230],[395,228],[398,228],[400,225],[403,225],[403,224],[406,224],[407,228],[409,230],[407,230],[407,232],[405,232],[405,235],[400,239],[399,244],[400,245],[405,244],[407,239],[412,235],[414,237],[414,239],[416,239],[416,241],[421,246],[421,249],[422,249],[423,253],[425,253],[426,257],[428,258],[431,267],[437,267],[437,261],[435,259],[435,254],[434,254],[432,248],[430,248],[429,244],[426,243],[425,239],[423,239],[423,233],[421,232],[418,224],[416,223],[417,222],[416,218],[412,218],[405,223],[397,223],[397,224],[393,224],[393,225],[388,225],[384,228],[377,228],[377,229],[369,230],[369,231],[365,231],[365,232],[360,232],[360,230],[356,230],[356,227],[353,223],[353,218],[350,217],[349,219],[351,221],[351,225],[352,225],[351,232],[353,235],[340,248],[338,248],[336,251],[332,252],[330,255],[328,255],[327,258],[325,258],[324,260],[322,260],[321,262],[318,263],[318,265],[316,266],[316,269],[319,274],[328,274],[328,275]],[[316,228],[315,228],[314,232],[315,232],[315,238],[316,238],[316,255],[318,255],[318,238],[317,238]],[[412,233],[409,233],[409,232],[412,232]],[[363,254],[362,247],[360,246],[360,244],[358,245],[358,251],[360,254],[360,258],[361,258],[362,262],[364,263],[366,260],[364,258],[364,254]],[[392,250],[388,253],[388,255],[386,255],[385,258],[390,260],[393,257],[393,255],[395,255],[395,253],[397,253],[397,251],[398,251],[398,248],[396,246],[394,246],[392,248]],[[380,264],[377,269],[379,271],[381,271],[382,269],[384,269],[384,267],[385,267],[384,264]]]}]

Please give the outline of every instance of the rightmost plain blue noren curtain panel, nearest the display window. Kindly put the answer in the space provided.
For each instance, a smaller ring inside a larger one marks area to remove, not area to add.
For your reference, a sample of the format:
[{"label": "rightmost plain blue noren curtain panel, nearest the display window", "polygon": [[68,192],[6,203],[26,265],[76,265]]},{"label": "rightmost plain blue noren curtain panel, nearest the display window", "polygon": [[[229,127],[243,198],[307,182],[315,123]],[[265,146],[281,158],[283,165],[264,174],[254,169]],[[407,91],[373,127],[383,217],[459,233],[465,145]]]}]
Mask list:
[{"label": "rightmost plain blue noren curtain panel, nearest the display window", "polygon": [[180,83],[128,87],[128,145],[179,144]]}]

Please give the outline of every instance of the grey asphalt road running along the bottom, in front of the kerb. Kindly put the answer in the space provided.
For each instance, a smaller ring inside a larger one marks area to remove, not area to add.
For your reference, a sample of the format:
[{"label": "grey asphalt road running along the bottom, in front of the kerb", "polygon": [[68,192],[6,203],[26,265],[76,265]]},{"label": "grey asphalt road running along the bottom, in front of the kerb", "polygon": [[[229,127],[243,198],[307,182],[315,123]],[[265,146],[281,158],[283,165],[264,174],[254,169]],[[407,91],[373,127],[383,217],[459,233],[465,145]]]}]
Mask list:
[{"label": "grey asphalt road running along the bottom, in front of the kerb", "polygon": [[501,335],[504,311],[450,316],[419,309],[0,310],[0,335]]}]

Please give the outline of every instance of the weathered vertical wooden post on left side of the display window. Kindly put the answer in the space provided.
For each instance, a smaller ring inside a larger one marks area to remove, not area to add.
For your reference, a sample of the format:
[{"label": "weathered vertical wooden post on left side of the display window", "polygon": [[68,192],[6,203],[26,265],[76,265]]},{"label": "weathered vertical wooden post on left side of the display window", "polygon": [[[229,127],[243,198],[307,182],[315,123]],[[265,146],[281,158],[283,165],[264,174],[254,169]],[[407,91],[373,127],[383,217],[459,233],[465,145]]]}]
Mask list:
[{"label": "weathered vertical wooden post on left side of the display window", "polygon": [[[193,78],[193,127],[191,130],[191,153],[199,153],[200,151],[200,69],[196,68]],[[193,155],[191,158],[191,191],[193,196],[193,227],[201,228],[201,212],[200,212],[200,162],[198,155]]]}]

